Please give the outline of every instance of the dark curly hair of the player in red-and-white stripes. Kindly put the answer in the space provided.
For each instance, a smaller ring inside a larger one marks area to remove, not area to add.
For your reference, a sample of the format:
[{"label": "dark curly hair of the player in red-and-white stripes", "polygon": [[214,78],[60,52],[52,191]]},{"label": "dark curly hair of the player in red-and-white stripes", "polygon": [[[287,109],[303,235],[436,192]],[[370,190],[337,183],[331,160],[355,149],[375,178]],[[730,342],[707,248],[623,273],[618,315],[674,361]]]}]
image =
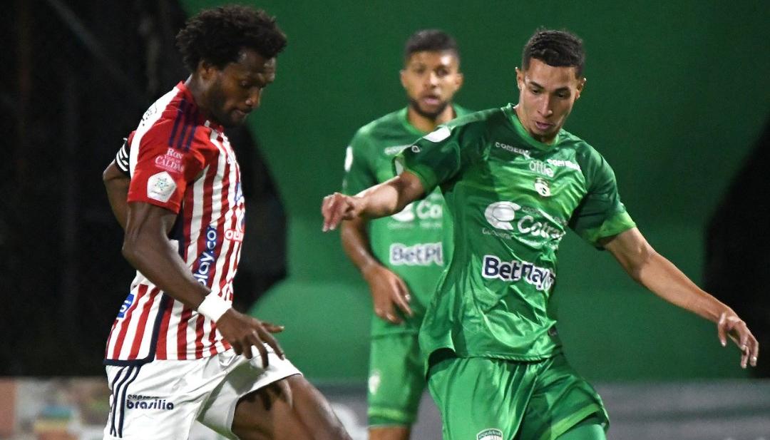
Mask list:
[{"label": "dark curly hair of the player in red-and-white stripes", "polygon": [[176,45],[187,69],[195,72],[201,60],[224,69],[238,60],[241,49],[271,59],[286,47],[286,35],[262,9],[226,5],[189,18],[176,34]]}]

